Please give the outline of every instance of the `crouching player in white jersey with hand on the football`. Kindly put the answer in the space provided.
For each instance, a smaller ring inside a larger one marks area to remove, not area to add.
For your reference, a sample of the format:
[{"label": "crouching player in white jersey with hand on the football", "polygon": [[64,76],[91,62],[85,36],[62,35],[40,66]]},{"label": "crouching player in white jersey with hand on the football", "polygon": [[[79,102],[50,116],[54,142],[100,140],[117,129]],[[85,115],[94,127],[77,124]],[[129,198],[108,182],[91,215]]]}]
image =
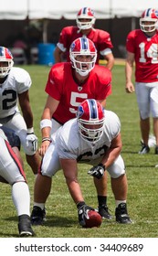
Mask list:
[{"label": "crouching player in white jersey with hand on the football", "polygon": [[[85,226],[88,206],[78,180],[78,163],[92,165],[88,174],[94,176],[100,187],[97,194],[104,197],[103,176],[109,172],[115,197],[115,218],[121,224],[132,223],[127,211],[127,177],[121,158],[121,123],[114,112],[104,111],[100,102],[85,100],[79,105],[77,118],[69,120],[57,133],[47,151],[51,155],[52,168],[42,176],[54,176],[63,169],[68,191],[78,208],[79,224]],[[44,156],[45,160],[45,156]],[[85,174],[86,175],[86,174]],[[99,213],[100,206],[99,206]],[[42,216],[41,216],[42,219]]]}]

